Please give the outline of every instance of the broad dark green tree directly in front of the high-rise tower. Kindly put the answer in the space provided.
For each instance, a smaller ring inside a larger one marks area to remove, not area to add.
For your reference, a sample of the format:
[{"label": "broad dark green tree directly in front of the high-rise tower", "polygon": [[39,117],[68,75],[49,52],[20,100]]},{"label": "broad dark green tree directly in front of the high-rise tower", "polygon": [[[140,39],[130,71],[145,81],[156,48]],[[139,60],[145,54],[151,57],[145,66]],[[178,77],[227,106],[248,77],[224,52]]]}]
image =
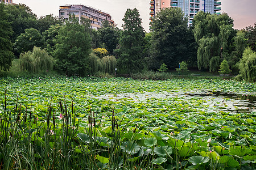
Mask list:
[{"label": "broad dark green tree directly in front of the high-rise tower", "polygon": [[[152,20],[151,65],[156,70],[162,63],[170,69],[188,58],[188,46],[192,42],[188,37],[188,19],[181,8],[164,8]],[[189,42],[189,44],[188,44]]]}]

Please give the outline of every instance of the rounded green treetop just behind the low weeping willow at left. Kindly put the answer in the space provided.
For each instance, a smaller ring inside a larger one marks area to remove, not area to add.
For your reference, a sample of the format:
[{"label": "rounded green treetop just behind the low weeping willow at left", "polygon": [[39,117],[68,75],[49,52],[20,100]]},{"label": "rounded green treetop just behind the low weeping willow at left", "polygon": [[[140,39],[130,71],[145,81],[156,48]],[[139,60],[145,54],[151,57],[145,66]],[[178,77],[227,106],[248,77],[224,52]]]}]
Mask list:
[{"label": "rounded green treetop just behind the low weeping willow at left", "polygon": [[21,33],[14,44],[14,50],[17,54],[28,52],[34,46],[44,48],[44,39],[41,33],[35,28],[28,28],[24,33]]}]

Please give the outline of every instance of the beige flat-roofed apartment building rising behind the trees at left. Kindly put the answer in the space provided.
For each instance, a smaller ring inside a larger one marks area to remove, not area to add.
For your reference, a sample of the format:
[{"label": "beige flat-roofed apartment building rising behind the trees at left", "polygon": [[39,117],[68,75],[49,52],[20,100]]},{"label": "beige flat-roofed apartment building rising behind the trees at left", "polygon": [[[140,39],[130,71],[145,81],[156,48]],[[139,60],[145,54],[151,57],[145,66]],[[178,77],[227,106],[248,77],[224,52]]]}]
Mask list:
[{"label": "beige flat-roofed apartment building rising behind the trees at left", "polygon": [[104,20],[108,20],[110,24],[114,25],[114,21],[110,14],[108,12],[98,10],[97,8],[81,4],[60,6],[60,18],[68,19],[68,16],[72,14],[79,18],[79,21],[81,20],[81,17],[89,19],[90,27],[93,29],[99,29]]}]

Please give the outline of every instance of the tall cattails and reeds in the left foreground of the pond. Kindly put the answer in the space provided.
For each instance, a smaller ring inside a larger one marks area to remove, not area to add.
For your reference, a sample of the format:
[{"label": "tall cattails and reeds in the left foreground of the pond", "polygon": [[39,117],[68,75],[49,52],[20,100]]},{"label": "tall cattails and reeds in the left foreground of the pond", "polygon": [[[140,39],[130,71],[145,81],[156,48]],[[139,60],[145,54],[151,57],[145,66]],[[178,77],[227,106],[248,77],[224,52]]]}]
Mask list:
[{"label": "tall cattails and reeds in the left foreground of the pond", "polygon": [[90,108],[88,126],[81,130],[73,100],[69,106],[65,100],[49,104],[44,118],[32,112],[32,105],[18,104],[18,97],[15,107],[8,107],[6,101],[0,114],[0,169],[135,169],[144,166],[130,162],[131,155],[122,150],[123,130],[128,125],[115,119],[114,109],[109,116],[110,131],[102,136],[98,130],[102,117]]}]

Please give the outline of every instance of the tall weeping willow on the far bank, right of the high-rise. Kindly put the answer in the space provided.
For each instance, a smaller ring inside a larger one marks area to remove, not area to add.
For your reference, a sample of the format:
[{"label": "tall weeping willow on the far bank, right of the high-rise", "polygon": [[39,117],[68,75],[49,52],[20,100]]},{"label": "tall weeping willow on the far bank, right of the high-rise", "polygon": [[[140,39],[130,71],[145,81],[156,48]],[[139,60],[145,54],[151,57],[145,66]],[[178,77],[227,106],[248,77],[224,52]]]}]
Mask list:
[{"label": "tall weeping willow on the far bank, right of the high-rise", "polygon": [[197,49],[197,66],[199,70],[218,71],[222,53],[228,49],[229,36],[233,31],[233,19],[227,14],[212,15],[200,11],[194,18],[193,29]]}]

